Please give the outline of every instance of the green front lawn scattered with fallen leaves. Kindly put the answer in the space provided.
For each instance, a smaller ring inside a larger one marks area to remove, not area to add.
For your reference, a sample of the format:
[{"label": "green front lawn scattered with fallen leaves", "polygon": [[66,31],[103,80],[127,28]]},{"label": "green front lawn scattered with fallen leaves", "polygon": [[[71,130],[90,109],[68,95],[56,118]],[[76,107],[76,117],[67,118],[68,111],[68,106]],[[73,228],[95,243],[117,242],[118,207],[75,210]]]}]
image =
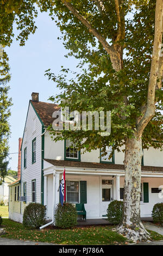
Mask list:
[{"label": "green front lawn scattered with fallen leaves", "polygon": [[[7,233],[2,237],[35,242],[49,242],[58,245],[127,245],[129,241],[114,231],[113,226],[83,227],[72,229],[27,229],[21,223],[3,219],[2,226]],[[149,230],[148,230],[149,231]],[[152,240],[163,240],[163,236],[149,231]]]}]

